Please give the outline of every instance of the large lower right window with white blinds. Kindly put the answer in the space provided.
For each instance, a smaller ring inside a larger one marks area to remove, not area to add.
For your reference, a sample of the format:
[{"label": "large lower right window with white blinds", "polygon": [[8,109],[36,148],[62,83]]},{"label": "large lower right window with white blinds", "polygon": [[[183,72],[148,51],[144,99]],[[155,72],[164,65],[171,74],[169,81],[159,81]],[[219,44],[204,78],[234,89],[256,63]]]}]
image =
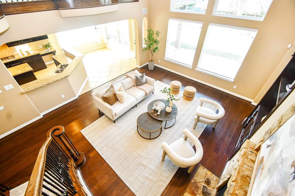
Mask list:
[{"label": "large lower right window with white blinds", "polygon": [[257,31],[209,23],[196,70],[233,82]]}]

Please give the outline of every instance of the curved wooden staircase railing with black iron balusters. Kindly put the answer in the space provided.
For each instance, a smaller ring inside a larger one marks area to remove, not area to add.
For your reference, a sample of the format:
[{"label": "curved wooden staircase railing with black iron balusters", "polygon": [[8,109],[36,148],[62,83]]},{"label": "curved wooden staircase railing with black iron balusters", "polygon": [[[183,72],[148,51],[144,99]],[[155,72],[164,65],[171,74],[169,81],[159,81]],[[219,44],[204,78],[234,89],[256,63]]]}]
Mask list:
[{"label": "curved wooden staircase railing with black iron balusters", "polygon": [[64,127],[51,128],[39,151],[25,196],[89,195],[88,187],[85,184],[83,186],[77,175],[85,161],[84,154],[78,152],[65,134]]}]

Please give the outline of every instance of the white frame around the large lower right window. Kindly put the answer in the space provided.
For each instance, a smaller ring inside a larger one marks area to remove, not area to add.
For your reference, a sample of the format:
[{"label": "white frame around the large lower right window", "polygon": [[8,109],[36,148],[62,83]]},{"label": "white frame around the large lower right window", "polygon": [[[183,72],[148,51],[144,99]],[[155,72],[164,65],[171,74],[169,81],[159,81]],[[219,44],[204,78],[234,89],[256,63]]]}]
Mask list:
[{"label": "white frame around the large lower right window", "polygon": [[[240,29],[240,30],[246,30],[246,31],[253,31],[253,32],[256,32],[256,33],[258,32],[258,29],[250,29],[250,28],[241,27],[241,26],[231,26],[231,25],[217,24],[217,23],[209,23],[209,25],[221,26],[221,27],[227,27],[227,28],[232,28],[232,29]],[[208,28],[209,28],[209,25],[208,25]],[[208,29],[207,29],[207,31],[208,31]],[[256,35],[257,35],[257,34],[256,34]],[[207,37],[207,32],[206,32],[206,36],[205,36],[205,39],[204,39],[204,40],[206,40],[206,37]],[[255,37],[256,37],[256,36],[255,36]],[[255,39],[255,38],[254,38],[254,39]],[[254,39],[253,39],[253,42],[254,42]],[[247,53],[246,53],[244,59],[242,60],[242,63],[241,63],[241,65],[240,65],[240,67],[239,67],[239,70],[240,70],[240,68],[241,68],[241,66],[242,66],[242,64],[243,64],[243,62],[244,62],[244,60],[245,60],[245,58],[246,58],[246,56],[247,56],[247,54],[248,54],[248,52],[249,52],[249,50],[250,50],[252,44],[253,44],[253,42],[251,43],[251,45],[250,45],[250,47],[249,47],[249,49],[248,49],[248,51],[247,51]],[[203,47],[204,47],[204,44],[203,44],[203,46],[202,46],[201,52],[203,51]],[[200,53],[200,56],[201,56],[201,53]],[[205,70],[205,69],[201,69],[201,68],[199,68],[199,67],[198,67],[198,65],[199,65],[199,61],[200,61],[200,58],[199,58],[199,60],[198,60],[197,67],[196,67],[196,69],[195,69],[196,71],[198,71],[198,72],[202,72],[202,73],[204,73],[204,74],[208,74],[208,75],[210,75],[210,76],[214,76],[214,77],[217,77],[217,78],[220,78],[220,79],[223,79],[223,80],[229,81],[229,82],[235,82],[235,78],[232,79],[232,78],[229,78],[229,77],[226,77],[226,76],[222,76],[222,75],[219,75],[219,74],[217,74],[217,73],[213,73],[213,72],[207,71],[207,70]],[[239,70],[238,70],[238,72],[239,72]],[[238,72],[237,72],[237,73],[238,73]],[[236,77],[236,76],[237,76],[237,74],[235,75],[235,77]]]}]

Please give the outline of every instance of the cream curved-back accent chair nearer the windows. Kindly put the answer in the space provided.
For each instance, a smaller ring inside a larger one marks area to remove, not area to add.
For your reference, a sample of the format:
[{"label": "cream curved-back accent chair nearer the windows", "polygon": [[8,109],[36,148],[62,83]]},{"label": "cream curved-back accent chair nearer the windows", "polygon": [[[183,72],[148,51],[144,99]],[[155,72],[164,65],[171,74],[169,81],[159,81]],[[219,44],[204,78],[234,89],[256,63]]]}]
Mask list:
[{"label": "cream curved-back accent chair nearer the windows", "polygon": [[[196,128],[196,125],[198,122],[201,122],[204,124],[214,124],[213,128],[215,128],[219,120],[224,116],[225,111],[223,107],[216,101],[206,99],[203,97],[200,98],[200,102],[201,102],[200,105],[196,109],[196,115],[194,118],[195,120],[194,129]],[[215,106],[218,109],[218,114],[216,114],[214,110],[204,107],[203,103],[208,103]]]}]

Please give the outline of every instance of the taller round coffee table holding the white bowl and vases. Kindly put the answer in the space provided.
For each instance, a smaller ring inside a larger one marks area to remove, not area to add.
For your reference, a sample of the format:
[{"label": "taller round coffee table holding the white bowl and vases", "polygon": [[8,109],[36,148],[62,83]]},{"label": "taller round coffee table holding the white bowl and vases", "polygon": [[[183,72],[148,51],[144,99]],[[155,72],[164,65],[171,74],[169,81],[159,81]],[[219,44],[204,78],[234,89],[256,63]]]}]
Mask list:
[{"label": "taller round coffee table holding the white bowl and vases", "polygon": [[[157,116],[154,115],[157,113],[156,110],[154,110],[153,113],[151,112],[152,108],[154,107],[155,102],[163,102],[165,104],[165,108],[160,112],[160,115],[157,115]],[[176,123],[176,115],[178,112],[175,104],[173,104],[172,111],[170,113],[166,112],[165,109],[168,105],[169,105],[169,102],[167,102],[167,100],[165,100],[165,99],[156,99],[156,100],[150,102],[150,104],[148,104],[148,113],[150,114],[150,116],[153,117],[154,119],[165,121],[164,129],[168,129]],[[173,120],[173,119],[174,119],[174,123],[170,127],[166,127],[167,121]]]}]

